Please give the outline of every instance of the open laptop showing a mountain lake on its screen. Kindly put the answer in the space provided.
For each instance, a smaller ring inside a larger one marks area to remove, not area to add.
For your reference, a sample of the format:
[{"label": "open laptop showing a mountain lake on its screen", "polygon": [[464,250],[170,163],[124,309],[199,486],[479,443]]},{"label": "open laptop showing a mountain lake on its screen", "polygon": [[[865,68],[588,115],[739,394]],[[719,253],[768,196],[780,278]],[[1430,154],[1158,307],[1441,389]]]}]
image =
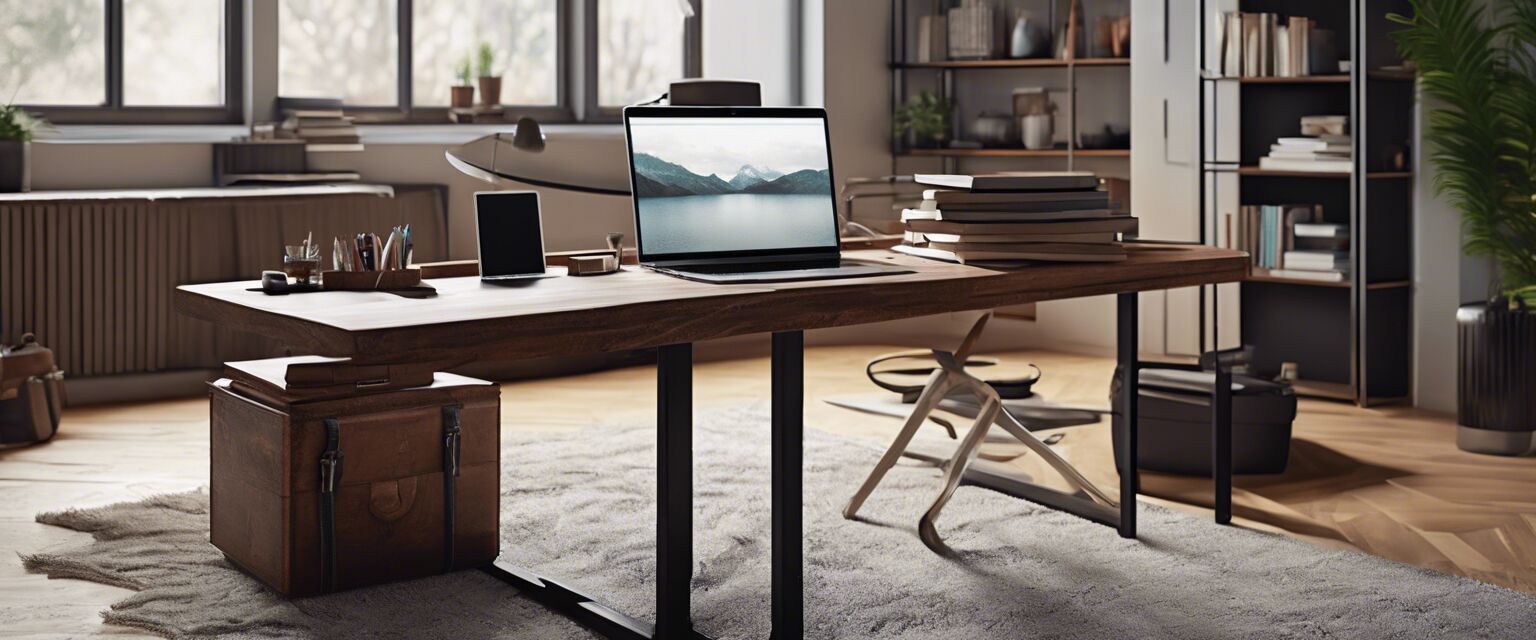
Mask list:
[{"label": "open laptop showing a mountain lake on its screen", "polygon": [[908,273],[842,258],[826,111],[624,109],[641,266],[702,282]]}]

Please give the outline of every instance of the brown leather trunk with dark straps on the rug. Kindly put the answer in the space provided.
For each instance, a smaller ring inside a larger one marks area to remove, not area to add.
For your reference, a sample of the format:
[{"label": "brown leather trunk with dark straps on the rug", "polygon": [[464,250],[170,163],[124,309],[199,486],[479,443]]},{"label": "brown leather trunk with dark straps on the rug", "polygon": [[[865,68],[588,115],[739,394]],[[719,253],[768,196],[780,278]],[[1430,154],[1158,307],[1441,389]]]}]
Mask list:
[{"label": "brown leather trunk with dark straps on the rug", "polygon": [[496,559],[496,384],[296,399],[264,362],[210,384],[210,539],[230,562],[303,597]]}]

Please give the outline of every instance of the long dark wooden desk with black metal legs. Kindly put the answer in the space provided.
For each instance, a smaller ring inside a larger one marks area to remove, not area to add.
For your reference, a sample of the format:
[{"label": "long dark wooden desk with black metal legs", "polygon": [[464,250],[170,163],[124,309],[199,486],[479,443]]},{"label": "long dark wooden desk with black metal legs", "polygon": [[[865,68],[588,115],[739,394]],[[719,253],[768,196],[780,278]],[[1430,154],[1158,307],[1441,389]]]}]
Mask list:
[{"label": "long dark wooden desk with black metal legs", "polygon": [[[690,282],[630,267],[598,278],[551,278],[487,285],[478,278],[430,281],[436,298],[329,292],[266,296],[253,282],[178,287],[177,308],[224,327],[280,338],[326,356],[362,361],[519,359],[624,348],[657,348],[657,580],[656,625],[499,559],[487,571],[530,597],[613,638],[699,637],[688,620],[693,571],[693,342],[773,333],[773,625],[780,640],[802,635],[803,332],[994,308],[1049,299],[1118,295],[1118,358],[1127,398],[1137,398],[1137,292],[1240,281],[1241,252],[1190,246],[1130,246],[1112,264],[1041,264],[989,270],[885,250],[848,258],[900,264],[912,273],[773,284]],[[1135,402],[1121,411],[1135,425]],[[1135,451],[1127,428],[1123,451]],[[1121,460],[1121,468],[1134,468]],[[1084,516],[1135,536],[1137,474],[1120,485],[1118,519]],[[1058,506],[1060,505],[1052,505]],[[1077,511],[1074,511],[1077,513]]]}]

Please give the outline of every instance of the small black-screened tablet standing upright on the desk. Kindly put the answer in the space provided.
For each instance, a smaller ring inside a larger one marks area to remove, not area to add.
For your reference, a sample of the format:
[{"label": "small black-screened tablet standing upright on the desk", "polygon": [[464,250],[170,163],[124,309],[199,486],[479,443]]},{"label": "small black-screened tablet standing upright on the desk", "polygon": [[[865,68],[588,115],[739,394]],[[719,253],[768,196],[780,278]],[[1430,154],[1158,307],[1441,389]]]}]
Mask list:
[{"label": "small black-screened tablet standing upright on the desk", "polygon": [[481,276],[544,273],[544,235],[535,192],[475,193]]}]

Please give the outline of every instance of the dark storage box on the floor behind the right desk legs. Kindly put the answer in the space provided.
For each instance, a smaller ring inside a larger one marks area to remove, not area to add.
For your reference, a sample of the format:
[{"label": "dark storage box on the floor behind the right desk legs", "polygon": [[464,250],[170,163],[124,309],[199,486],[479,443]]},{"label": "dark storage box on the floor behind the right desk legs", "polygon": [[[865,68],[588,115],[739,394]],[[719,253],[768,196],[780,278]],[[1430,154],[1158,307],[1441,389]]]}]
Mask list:
[{"label": "dark storage box on the floor behind the right desk legs", "polygon": [[[1210,396],[1215,373],[1143,368],[1137,467],[1189,476],[1210,476]],[[1121,402],[1120,373],[1112,388]],[[1289,385],[1232,376],[1232,473],[1281,473],[1290,459],[1290,424],[1296,396]],[[1124,419],[1114,419],[1115,467]]]}]

